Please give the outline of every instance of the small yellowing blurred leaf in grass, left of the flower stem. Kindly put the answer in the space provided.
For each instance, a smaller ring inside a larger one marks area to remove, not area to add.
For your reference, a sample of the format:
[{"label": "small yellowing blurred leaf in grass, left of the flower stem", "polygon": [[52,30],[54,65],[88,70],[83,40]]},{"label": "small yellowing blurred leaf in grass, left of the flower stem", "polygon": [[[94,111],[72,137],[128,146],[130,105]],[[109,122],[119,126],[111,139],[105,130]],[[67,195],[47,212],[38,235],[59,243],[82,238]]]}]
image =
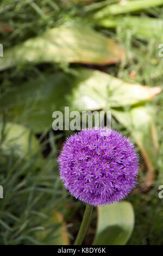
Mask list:
[{"label": "small yellowing blurred leaf in grass, left of the flower stem", "polygon": [[[52,228],[55,228],[54,236],[52,236]],[[68,245],[69,238],[66,233],[65,223],[63,222],[60,212],[53,211],[52,216],[45,223],[43,230],[35,232],[37,240],[44,245]],[[49,239],[50,237],[50,239]]]}]

